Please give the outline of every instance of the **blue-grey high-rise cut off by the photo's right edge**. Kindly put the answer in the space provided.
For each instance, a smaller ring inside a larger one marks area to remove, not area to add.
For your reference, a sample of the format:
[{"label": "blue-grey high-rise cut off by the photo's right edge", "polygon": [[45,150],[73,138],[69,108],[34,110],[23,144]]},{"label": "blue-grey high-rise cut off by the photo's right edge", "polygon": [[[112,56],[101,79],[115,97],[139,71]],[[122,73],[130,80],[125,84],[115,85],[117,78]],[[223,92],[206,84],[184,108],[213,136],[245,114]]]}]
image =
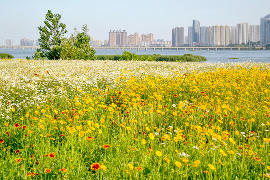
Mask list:
[{"label": "blue-grey high-rise cut off by the photo's right edge", "polygon": [[270,44],[270,14],[260,18],[260,45]]}]

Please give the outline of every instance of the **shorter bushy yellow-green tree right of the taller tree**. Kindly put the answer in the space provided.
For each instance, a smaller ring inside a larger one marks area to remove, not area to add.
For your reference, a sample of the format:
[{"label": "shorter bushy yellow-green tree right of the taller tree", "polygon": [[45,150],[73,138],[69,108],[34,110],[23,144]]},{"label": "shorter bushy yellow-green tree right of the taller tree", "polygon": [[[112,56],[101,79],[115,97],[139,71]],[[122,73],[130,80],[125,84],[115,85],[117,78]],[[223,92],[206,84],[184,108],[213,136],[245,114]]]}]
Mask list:
[{"label": "shorter bushy yellow-green tree right of the taller tree", "polygon": [[82,27],[82,32],[75,32],[69,39],[64,39],[61,44],[61,58],[62,59],[83,59],[94,60],[95,50],[90,46],[90,36],[87,24]]}]

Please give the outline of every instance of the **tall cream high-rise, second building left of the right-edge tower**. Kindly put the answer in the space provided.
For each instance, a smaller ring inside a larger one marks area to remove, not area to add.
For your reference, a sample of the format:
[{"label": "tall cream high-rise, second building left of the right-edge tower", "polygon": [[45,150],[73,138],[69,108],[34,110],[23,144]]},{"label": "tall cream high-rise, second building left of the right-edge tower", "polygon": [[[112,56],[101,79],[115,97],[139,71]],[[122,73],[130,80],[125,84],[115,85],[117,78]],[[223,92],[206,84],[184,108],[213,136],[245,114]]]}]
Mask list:
[{"label": "tall cream high-rise, second building left of the right-edge tower", "polygon": [[248,43],[249,26],[248,23],[237,24],[237,44]]}]

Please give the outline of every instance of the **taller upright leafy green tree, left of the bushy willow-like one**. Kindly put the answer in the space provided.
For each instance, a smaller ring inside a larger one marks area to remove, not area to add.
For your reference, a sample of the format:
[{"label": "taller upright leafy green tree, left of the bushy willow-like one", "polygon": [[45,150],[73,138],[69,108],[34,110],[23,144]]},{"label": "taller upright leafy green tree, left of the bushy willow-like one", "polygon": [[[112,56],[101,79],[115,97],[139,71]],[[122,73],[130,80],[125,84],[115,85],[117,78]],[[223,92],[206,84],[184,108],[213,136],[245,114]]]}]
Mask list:
[{"label": "taller upright leafy green tree, left of the bushy willow-like one", "polygon": [[38,39],[42,57],[46,57],[50,60],[59,59],[61,54],[61,41],[63,35],[67,33],[66,25],[61,23],[60,14],[53,14],[50,10],[46,14],[46,20],[44,21],[44,27],[38,27],[40,38]]}]

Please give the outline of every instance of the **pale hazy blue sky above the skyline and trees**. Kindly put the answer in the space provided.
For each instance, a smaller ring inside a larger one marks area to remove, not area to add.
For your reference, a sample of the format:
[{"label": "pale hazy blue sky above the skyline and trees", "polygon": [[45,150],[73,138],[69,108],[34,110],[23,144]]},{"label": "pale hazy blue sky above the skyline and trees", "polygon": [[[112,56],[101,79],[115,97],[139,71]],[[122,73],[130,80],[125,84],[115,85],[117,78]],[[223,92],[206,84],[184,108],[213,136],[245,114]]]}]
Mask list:
[{"label": "pale hazy blue sky above the skyline and trees", "polygon": [[86,23],[90,35],[103,41],[110,29],[128,35],[153,33],[154,39],[171,40],[171,29],[184,27],[187,35],[192,20],[200,26],[260,24],[270,13],[270,0],[0,0],[0,45],[23,37],[38,39],[48,9],[62,14],[68,34]]}]

